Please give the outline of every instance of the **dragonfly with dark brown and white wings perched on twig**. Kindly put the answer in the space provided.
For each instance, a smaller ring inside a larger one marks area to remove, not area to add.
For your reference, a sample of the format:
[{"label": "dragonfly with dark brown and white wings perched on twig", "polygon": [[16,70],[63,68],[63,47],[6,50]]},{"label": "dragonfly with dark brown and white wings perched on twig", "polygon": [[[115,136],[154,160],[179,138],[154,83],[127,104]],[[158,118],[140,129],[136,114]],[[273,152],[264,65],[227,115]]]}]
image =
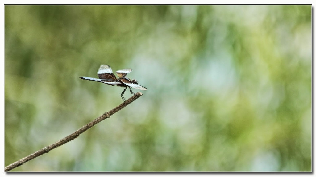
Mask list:
[{"label": "dragonfly with dark brown and white wings perched on twig", "polygon": [[106,84],[112,85],[112,86],[117,85],[120,87],[125,87],[124,91],[121,94],[121,97],[122,97],[123,101],[125,102],[126,100],[125,100],[123,95],[124,95],[127,87],[130,88],[131,94],[134,94],[134,95],[135,95],[135,93],[132,91],[131,87],[137,88],[139,90],[147,90],[146,87],[138,85],[138,81],[136,79],[131,80],[131,79],[125,77],[131,71],[133,71],[133,70],[132,69],[123,69],[123,70],[116,71],[116,75],[119,77],[119,78],[116,78],[115,75],[113,74],[110,66],[101,65],[99,68],[99,71],[98,71],[99,79],[92,78],[92,77],[80,77],[80,78],[84,79],[84,80],[89,80],[89,81],[106,83]]}]

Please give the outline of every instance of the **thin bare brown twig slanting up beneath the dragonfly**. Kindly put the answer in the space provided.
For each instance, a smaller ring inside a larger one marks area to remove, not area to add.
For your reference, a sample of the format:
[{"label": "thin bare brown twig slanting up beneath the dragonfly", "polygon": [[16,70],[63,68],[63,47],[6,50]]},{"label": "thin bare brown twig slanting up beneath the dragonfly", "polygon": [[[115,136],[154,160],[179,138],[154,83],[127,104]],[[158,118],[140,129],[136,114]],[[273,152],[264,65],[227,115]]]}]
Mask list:
[{"label": "thin bare brown twig slanting up beneath the dragonfly", "polygon": [[77,138],[80,134],[82,134],[83,132],[85,132],[86,130],[88,130],[89,128],[93,127],[95,124],[103,121],[106,118],[109,118],[110,116],[112,116],[114,113],[116,113],[117,111],[123,109],[125,106],[129,105],[131,102],[135,101],[138,97],[142,96],[143,94],[141,92],[137,92],[137,94],[135,94],[134,96],[132,96],[130,99],[126,100],[124,103],[120,104],[119,106],[117,106],[116,108],[112,109],[111,111],[108,111],[104,114],[102,114],[100,117],[94,119],[92,122],[88,123],[87,125],[83,126],[82,128],[80,128],[79,130],[75,131],[74,133],[70,134],[69,136],[66,136],[65,138],[57,141],[56,143],[50,145],[50,146],[46,146],[43,149],[34,152],[33,154],[22,158],[19,161],[16,161],[15,163],[12,163],[11,165],[8,165],[7,167],[4,168],[4,171],[10,171],[13,168],[16,168],[18,166],[23,165],[24,163],[32,160],[35,157],[39,157],[40,155],[43,155],[45,153],[48,153],[49,151],[51,151],[52,149],[57,148],[58,146],[61,146],[71,140],[74,140],[75,138]]}]

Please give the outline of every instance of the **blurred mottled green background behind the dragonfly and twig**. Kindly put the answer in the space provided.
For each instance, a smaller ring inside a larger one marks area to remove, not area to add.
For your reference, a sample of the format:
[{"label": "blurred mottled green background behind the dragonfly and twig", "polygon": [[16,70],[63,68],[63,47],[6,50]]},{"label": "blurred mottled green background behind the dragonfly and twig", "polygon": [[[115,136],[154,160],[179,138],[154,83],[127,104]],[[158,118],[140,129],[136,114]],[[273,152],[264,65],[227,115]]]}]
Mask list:
[{"label": "blurred mottled green background behind the dragonfly and twig", "polygon": [[148,90],[12,171],[311,171],[311,12],[6,5],[5,166],[121,104],[108,64]]}]

